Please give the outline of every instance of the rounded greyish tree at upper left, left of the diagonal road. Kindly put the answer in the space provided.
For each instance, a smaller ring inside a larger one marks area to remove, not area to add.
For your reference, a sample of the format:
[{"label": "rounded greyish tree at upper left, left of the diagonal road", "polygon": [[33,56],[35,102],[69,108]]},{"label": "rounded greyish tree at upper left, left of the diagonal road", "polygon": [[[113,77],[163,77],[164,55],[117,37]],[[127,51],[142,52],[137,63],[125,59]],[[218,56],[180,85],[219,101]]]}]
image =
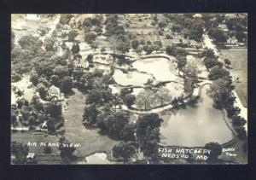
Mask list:
[{"label": "rounded greyish tree at upper left, left of the diagonal road", "polygon": [[20,44],[21,49],[38,52],[38,50],[41,49],[43,42],[38,37],[25,35],[19,39],[18,44]]}]

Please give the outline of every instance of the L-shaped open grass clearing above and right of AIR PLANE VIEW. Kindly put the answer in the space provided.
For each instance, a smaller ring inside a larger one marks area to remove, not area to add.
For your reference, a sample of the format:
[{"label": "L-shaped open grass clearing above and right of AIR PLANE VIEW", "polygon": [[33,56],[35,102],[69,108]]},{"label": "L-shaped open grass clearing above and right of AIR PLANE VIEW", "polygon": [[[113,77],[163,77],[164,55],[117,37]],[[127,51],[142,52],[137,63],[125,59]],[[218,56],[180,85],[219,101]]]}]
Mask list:
[{"label": "L-shaped open grass clearing above and right of AIR PLANE VIEW", "polygon": [[65,136],[69,142],[80,143],[75,154],[85,157],[95,152],[110,153],[110,150],[118,141],[108,136],[99,134],[99,129],[87,129],[82,124],[85,96],[79,90],[73,89],[74,95],[68,100],[67,110],[63,112],[65,123]]}]

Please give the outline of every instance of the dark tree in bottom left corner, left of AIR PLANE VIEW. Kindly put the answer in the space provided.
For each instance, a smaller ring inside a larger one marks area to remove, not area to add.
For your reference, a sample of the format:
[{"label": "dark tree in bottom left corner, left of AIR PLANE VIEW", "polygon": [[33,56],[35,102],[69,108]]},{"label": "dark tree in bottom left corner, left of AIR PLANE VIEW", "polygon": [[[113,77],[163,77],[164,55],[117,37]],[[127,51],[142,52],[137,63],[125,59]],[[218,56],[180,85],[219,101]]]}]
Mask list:
[{"label": "dark tree in bottom left corner, left of AIR PLANE VIEW", "polygon": [[11,153],[15,155],[15,164],[26,164],[26,156],[28,154],[27,145],[23,145],[20,142],[12,142]]}]

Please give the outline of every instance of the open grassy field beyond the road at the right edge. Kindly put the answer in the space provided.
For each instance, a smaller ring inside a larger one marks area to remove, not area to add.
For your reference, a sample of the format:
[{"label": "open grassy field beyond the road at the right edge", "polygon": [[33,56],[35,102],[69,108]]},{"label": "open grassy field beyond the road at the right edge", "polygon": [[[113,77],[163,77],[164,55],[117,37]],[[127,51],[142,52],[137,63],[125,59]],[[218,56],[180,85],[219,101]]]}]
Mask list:
[{"label": "open grassy field beyond the road at the right edge", "polygon": [[221,58],[231,61],[230,73],[233,78],[239,77],[236,83],[236,93],[241,103],[247,107],[247,49],[221,49]]}]

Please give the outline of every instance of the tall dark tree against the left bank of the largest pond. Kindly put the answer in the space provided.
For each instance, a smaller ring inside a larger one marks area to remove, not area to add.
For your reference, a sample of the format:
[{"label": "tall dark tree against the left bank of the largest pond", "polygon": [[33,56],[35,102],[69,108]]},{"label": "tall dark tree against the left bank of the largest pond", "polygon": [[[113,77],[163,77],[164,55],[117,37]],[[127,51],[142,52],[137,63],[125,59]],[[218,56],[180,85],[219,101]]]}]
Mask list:
[{"label": "tall dark tree against the left bank of the largest pond", "polygon": [[137,142],[145,156],[150,157],[156,153],[162,122],[163,119],[160,119],[156,113],[145,114],[137,119]]}]

